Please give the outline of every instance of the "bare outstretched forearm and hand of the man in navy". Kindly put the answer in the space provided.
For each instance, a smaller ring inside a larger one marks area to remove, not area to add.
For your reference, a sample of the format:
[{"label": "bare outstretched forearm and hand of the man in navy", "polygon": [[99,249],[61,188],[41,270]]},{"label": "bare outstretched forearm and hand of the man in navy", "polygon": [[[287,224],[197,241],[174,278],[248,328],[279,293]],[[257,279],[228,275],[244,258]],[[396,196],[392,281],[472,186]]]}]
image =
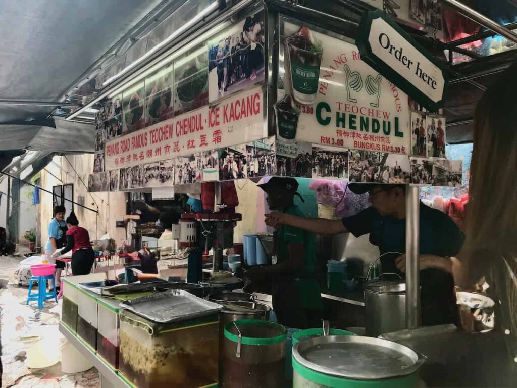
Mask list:
[{"label": "bare outstretched forearm and hand of the man in navy", "polygon": [[279,212],[272,212],[265,214],[265,216],[266,225],[273,228],[278,228],[280,225],[288,225],[316,234],[340,234],[348,232],[341,220],[303,218]]}]

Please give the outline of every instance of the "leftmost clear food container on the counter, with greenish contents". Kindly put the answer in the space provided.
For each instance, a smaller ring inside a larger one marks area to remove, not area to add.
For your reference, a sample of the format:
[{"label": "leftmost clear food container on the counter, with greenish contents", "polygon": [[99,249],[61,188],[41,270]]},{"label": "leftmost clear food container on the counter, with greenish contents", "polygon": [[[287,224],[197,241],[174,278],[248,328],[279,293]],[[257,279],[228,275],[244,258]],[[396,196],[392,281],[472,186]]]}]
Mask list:
[{"label": "leftmost clear food container on the counter, with greenish contents", "polygon": [[63,308],[61,311],[61,323],[73,334],[77,334],[79,283],[87,281],[100,281],[105,278],[105,273],[67,276],[63,278]]}]

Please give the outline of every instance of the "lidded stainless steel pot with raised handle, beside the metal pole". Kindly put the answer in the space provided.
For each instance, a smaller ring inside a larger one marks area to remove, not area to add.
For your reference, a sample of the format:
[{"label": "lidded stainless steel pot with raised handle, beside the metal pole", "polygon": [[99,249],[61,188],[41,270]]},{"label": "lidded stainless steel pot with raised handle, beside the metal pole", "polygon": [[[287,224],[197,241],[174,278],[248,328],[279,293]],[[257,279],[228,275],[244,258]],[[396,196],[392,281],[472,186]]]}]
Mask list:
[{"label": "lidded stainless steel pot with raised handle, beside the metal pole", "polygon": [[406,327],[406,283],[400,278],[370,280],[364,285],[366,335],[377,337]]}]

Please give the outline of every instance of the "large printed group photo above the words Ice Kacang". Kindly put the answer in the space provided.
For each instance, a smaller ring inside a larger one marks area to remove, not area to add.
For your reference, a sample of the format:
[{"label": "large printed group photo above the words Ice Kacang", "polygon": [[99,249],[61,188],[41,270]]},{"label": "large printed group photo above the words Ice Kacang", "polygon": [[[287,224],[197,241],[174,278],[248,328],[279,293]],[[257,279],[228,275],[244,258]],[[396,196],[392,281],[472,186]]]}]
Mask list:
[{"label": "large printed group photo above the words Ice Kacang", "polygon": [[264,81],[264,12],[234,24],[208,42],[209,100]]}]

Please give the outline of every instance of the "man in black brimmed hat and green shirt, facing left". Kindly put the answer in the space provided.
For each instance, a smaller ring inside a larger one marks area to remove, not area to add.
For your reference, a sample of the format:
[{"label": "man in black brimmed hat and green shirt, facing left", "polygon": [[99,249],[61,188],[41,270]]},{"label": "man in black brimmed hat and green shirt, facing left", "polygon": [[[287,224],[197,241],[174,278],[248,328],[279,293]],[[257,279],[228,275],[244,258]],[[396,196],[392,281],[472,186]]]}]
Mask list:
[{"label": "man in black brimmed hat and green shirt, facing left", "polygon": [[[258,187],[266,192],[270,210],[305,219],[294,204],[295,195],[303,201],[294,178],[273,176]],[[273,309],[281,324],[298,329],[319,327],[323,305],[320,287],[314,277],[316,236],[295,225],[278,226],[275,254],[276,265],[252,267],[246,277],[252,281],[272,281]]]}]

